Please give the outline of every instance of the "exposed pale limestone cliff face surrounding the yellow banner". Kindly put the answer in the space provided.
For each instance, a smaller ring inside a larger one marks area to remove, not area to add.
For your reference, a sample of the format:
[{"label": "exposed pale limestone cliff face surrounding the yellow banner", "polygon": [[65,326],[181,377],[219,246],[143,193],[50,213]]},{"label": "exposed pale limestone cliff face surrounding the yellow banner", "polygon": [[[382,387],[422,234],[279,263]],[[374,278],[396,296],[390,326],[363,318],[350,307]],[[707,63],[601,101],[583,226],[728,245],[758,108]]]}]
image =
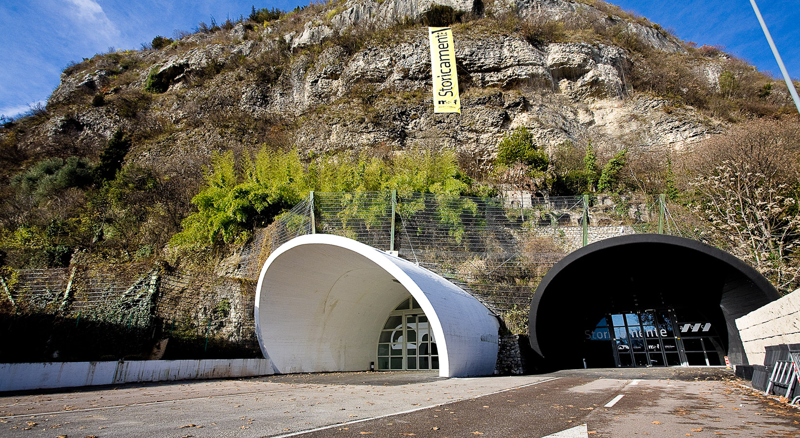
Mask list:
[{"label": "exposed pale limestone cliff face surrounding the yellow banner", "polygon": [[[344,0],[326,8],[294,26],[286,24],[294,18],[250,28],[238,24],[187,36],[171,50],[127,53],[133,67],[124,73],[119,62],[104,58],[63,74],[50,102],[66,104],[95,93],[119,102],[157,81],[163,92],[145,93],[134,117],[110,106],[84,106],[71,116],[82,127],[80,135],[98,143],[117,127],[135,130],[146,123],[166,132],[129,157],[154,161],[263,141],[266,128],[219,127],[234,115],[251,125],[289,120],[289,141],[302,150],[453,147],[477,163],[491,159],[498,139],[518,126],[528,127],[546,147],[591,140],[610,149],[681,151],[722,124],[690,106],[633,90],[626,74],[638,59],[626,48],[574,38],[531,42],[502,26],[493,30],[470,21],[509,14],[518,20],[574,19],[578,11],[593,26],[616,26],[650,49],[684,50],[653,26],[582,2]],[[454,26],[462,115],[432,113],[426,28],[408,24],[442,10],[463,22]],[[364,36],[381,32],[385,38]],[[366,43],[339,43],[352,34]],[[713,61],[698,69],[710,82],[718,79]],[[128,82],[120,83],[123,75]],[[58,121],[50,125],[58,131]],[[167,143],[168,151],[159,150]]]}]

